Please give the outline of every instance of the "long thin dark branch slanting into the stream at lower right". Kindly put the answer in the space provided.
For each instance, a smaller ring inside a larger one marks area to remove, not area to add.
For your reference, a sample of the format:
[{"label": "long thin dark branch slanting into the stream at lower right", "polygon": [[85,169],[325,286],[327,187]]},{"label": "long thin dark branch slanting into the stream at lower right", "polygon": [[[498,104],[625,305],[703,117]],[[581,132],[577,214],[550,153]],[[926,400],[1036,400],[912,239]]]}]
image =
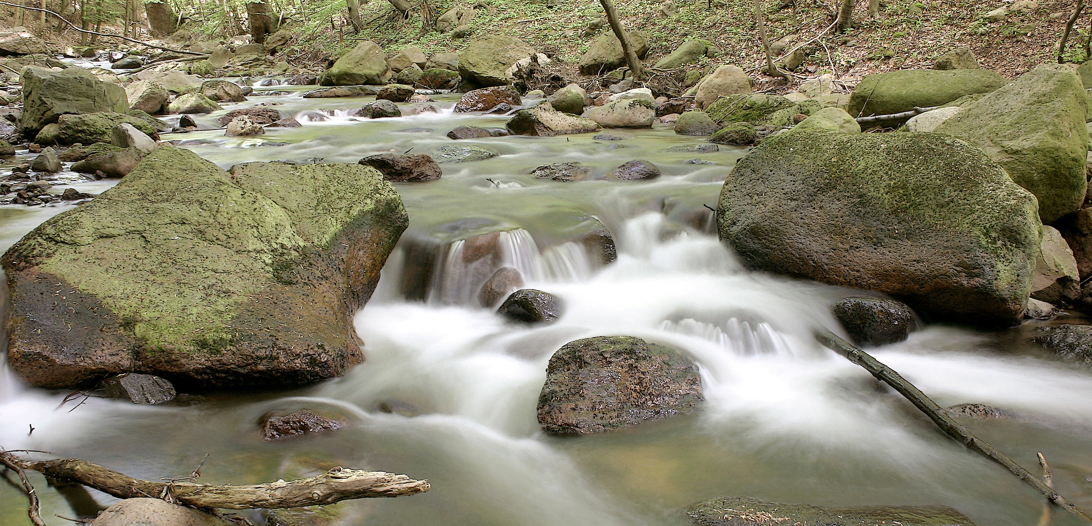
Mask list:
[{"label": "long thin dark branch slanting into the stream at lower right", "polygon": [[957,422],[951,416],[948,415],[948,411],[937,405],[936,402],[933,402],[933,399],[926,396],[925,393],[915,387],[914,384],[907,382],[895,370],[885,366],[876,358],[873,358],[868,352],[854,347],[852,344],[838,337],[830,331],[817,332],[816,339],[834,352],[842,355],[853,363],[860,366],[864,370],[871,373],[873,376],[876,376],[877,380],[880,380],[893,387],[899,392],[899,394],[903,395],[907,401],[914,404],[914,406],[921,409],[922,413],[929,417],[929,419],[933,420],[933,422],[936,423],[937,427],[940,428],[940,430],[948,437],[982,454],[986,458],[1000,464],[1005,467],[1005,469],[1008,469],[1009,473],[1016,475],[1020,478],[1020,480],[1023,480],[1028,486],[1034,488],[1035,491],[1042,493],[1048,501],[1057,504],[1063,510],[1072,513],[1087,523],[1092,523],[1092,517],[1078,509],[1073,503],[1069,502],[1065,497],[1058,494],[1057,491],[1054,491],[1054,488],[1051,488],[1051,486],[1021,467],[1012,461],[1012,458],[1009,458],[1006,454],[997,451],[994,446],[972,433],[970,429],[966,429],[961,423]]}]

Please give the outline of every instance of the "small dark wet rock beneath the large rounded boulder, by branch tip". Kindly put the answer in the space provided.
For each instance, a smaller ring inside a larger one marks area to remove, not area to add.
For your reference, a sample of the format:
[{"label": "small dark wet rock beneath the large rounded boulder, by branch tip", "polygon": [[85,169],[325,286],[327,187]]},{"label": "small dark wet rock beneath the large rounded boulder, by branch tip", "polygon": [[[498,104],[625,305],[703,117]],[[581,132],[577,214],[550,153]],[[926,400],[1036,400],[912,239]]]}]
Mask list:
[{"label": "small dark wet rock beneath the large rounded boulder, by branch tip", "polygon": [[870,296],[839,301],[834,304],[834,318],[860,347],[902,342],[917,325],[917,318],[906,303]]}]

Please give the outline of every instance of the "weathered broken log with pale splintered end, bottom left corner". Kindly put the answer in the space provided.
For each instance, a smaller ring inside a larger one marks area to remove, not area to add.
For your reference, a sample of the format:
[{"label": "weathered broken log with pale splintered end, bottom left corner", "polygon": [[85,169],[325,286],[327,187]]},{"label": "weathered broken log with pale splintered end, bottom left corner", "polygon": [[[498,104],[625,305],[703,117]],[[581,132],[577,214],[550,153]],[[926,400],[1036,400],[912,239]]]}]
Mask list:
[{"label": "weathered broken log with pale splintered end, bottom left corner", "polygon": [[414,480],[405,475],[342,467],[318,477],[247,486],[153,482],[79,458],[25,463],[22,467],[39,471],[57,482],[81,483],[119,499],[152,497],[192,507],[228,510],[333,504],[347,499],[412,495],[429,488],[427,480]]}]

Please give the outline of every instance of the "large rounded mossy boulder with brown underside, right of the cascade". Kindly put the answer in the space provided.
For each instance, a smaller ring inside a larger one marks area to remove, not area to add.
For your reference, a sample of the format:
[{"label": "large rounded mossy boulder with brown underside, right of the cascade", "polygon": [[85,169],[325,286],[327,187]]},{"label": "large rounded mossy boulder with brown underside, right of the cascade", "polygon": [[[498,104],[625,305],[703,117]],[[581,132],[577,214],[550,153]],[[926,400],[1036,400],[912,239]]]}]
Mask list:
[{"label": "large rounded mossy boulder with brown underside, right of the cascade", "polygon": [[753,268],[885,292],[953,322],[1019,320],[1040,251],[1034,196],[937,133],[767,138],[725,180],[716,217]]}]

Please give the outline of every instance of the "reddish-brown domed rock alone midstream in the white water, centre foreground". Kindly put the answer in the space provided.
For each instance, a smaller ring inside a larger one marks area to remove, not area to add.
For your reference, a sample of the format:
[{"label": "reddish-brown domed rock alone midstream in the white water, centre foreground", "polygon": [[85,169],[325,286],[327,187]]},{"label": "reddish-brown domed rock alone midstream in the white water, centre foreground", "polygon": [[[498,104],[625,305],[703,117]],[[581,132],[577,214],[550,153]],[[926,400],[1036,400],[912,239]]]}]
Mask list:
[{"label": "reddish-brown domed rock alone midstream in the white water, centre foreground", "polygon": [[686,415],[703,399],[698,367],[631,336],[570,342],[554,352],[538,395],[543,431],[578,435]]}]

